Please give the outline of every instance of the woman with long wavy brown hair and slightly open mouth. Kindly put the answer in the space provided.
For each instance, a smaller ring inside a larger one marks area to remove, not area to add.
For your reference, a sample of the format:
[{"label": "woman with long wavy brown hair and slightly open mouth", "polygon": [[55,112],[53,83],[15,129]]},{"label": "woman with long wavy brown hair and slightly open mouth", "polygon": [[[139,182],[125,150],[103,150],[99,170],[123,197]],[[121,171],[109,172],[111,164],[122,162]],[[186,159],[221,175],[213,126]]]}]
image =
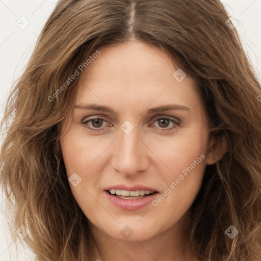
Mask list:
[{"label": "woman with long wavy brown hair and slightly open mouth", "polygon": [[46,261],[260,260],[253,71],[218,0],[60,1],[2,122],[13,237]]}]

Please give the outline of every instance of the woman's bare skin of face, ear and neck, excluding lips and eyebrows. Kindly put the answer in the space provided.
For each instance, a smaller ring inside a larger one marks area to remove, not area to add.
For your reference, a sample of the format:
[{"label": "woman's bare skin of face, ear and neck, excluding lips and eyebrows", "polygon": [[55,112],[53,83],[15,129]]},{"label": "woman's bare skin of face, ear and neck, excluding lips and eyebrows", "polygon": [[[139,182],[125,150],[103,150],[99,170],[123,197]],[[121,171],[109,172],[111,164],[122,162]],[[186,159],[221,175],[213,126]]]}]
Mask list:
[{"label": "woman's bare skin of face, ear and neck, excluding lips and eyebrows", "polygon": [[[109,106],[116,114],[75,108],[72,123],[62,122],[60,140],[68,178],[75,172],[82,178],[76,187],[69,184],[98,246],[91,245],[90,260],[198,260],[184,226],[205,167],[222,158],[224,143],[210,135],[194,80],[187,75],[177,82],[172,74],[178,66],[163,50],[135,40],[100,51],[81,74],[76,105]],[[189,110],[147,114],[173,104]],[[166,117],[179,124],[160,120]],[[91,118],[105,121],[83,123]],[[120,128],[126,120],[134,126],[129,134]],[[116,184],[162,194],[201,154],[204,159],[156,206],[120,210],[105,196],[103,190]],[[121,233],[126,225],[133,230],[129,238]]]}]

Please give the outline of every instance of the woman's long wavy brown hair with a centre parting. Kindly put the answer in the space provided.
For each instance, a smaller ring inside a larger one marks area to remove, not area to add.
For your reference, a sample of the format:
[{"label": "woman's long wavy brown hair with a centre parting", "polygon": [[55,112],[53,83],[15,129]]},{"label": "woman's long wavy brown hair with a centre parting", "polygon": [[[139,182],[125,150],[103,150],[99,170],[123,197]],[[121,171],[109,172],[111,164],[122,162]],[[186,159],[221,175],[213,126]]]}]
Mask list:
[{"label": "woman's long wavy brown hair with a centre parting", "polygon": [[[1,122],[0,181],[15,242],[24,225],[30,234],[23,241],[36,260],[89,260],[91,231],[71,193],[59,146],[80,77],[66,90],[57,87],[98,48],[141,40],[166,51],[193,77],[211,134],[227,140],[223,158],[206,166],[190,208],[186,232],[193,251],[202,261],[260,260],[261,87],[227,19],[219,0],[58,2]],[[233,239],[225,233],[230,225],[239,230]]]}]

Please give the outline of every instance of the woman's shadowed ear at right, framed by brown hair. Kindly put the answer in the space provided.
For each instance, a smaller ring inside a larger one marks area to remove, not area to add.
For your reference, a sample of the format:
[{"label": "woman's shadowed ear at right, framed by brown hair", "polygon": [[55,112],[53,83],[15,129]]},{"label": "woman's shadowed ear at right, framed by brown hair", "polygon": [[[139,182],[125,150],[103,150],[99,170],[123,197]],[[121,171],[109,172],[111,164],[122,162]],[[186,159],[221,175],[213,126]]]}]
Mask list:
[{"label": "woman's shadowed ear at right, framed by brown hair", "polygon": [[206,165],[213,165],[220,161],[227,151],[227,140],[224,135],[210,134],[208,139],[208,150],[206,154]]}]

